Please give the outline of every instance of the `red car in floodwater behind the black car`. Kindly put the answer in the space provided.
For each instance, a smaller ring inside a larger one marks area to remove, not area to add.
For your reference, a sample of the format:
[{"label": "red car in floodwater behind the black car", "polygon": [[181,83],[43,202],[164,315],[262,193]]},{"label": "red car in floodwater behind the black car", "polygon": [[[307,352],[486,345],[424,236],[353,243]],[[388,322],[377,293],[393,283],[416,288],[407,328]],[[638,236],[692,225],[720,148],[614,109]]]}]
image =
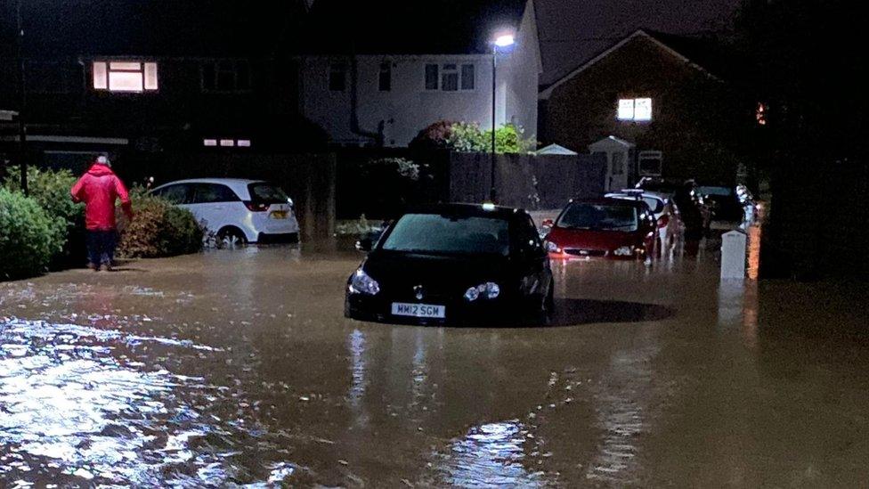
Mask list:
[{"label": "red car in floodwater behind the black car", "polygon": [[654,215],[642,200],[571,200],[546,237],[550,258],[605,257],[651,260],[655,253]]}]

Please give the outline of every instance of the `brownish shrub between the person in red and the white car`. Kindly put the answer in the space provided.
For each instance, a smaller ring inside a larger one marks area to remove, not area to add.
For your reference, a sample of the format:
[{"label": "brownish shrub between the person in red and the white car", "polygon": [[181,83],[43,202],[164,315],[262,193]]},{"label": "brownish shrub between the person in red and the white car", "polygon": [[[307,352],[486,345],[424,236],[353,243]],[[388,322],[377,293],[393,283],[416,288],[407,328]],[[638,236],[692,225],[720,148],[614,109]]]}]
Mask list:
[{"label": "brownish shrub between the person in red and the white car", "polygon": [[139,187],[133,189],[130,197],[135,213],[133,222],[127,222],[118,209],[119,256],[174,257],[202,249],[205,232],[189,210],[176,208]]}]

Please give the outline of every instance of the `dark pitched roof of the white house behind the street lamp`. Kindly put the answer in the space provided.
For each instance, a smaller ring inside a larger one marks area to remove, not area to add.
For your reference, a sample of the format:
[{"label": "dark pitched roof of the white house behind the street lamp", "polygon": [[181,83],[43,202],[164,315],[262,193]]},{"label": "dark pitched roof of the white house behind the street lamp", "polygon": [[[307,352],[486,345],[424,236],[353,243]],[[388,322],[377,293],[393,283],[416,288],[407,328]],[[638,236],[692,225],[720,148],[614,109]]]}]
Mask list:
[{"label": "dark pitched roof of the white house behind the street lamp", "polygon": [[518,28],[525,0],[316,0],[308,53],[487,53],[494,31]]}]

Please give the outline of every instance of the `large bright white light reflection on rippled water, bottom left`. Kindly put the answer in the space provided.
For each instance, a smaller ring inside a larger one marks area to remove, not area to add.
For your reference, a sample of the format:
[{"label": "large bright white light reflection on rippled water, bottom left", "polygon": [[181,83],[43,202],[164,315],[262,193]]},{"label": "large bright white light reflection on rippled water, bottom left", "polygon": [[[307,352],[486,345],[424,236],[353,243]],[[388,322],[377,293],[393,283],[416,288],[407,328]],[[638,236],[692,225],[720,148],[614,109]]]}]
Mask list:
[{"label": "large bright white light reflection on rippled water, bottom left", "polygon": [[[220,443],[249,434],[202,412],[226,388],[161,367],[146,371],[134,351],[155,345],[170,354],[215,351],[74,324],[0,322],[0,483],[193,487],[251,480],[233,462],[239,452]],[[277,482],[296,469],[274,463],[263,477]]]}]

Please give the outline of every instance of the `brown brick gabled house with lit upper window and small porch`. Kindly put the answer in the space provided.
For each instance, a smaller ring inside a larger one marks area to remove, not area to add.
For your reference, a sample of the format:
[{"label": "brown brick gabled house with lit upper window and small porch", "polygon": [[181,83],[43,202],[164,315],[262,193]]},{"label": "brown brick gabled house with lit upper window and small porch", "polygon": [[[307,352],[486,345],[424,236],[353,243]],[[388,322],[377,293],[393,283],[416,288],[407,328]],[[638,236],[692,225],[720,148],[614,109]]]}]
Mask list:
[{"label": "brown brick gabled house with lit upper window and small porch", "polygon": [[711,41],[637,30],[540,91],[540,140],[604,152],[613,188],[642,175],[732,181],[743,114],[725,61]]}]

